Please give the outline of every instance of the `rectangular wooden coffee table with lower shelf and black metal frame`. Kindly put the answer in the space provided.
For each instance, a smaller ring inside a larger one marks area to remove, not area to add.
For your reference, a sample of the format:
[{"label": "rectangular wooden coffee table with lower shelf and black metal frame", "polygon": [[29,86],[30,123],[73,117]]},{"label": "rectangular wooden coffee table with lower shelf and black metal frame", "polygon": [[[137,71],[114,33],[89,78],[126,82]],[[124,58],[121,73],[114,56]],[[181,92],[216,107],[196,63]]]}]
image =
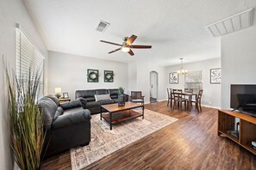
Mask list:
[{"label": "rectangular wooden coffee table with lower shelf and black metal frame", "polygon": [[[142,113],[135,112],[132,109],[142,108]],[[107,113],[103,113],[103,109],[107,110]],[[125,102],[125,106],[118,106],[117,103],[101,106],[101,120],[104,118],[110,125],[112,130],[112,124],[116,124],[131,118],[144,118],[144,105],[140,105],[131,101]]]}]

